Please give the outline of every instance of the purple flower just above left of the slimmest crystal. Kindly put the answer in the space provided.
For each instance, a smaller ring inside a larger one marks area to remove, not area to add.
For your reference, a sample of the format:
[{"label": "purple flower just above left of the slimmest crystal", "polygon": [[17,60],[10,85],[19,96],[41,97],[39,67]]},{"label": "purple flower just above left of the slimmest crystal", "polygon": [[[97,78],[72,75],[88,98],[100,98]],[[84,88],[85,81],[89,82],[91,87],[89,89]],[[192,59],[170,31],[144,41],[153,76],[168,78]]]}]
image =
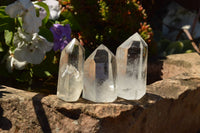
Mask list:
[{"label": "purple flower just above left of the slimmest crystal", "polygon": [[71,41],[71,28],[69,24],[62,26],[60,24],[54,24],[50,28],[53,33],[54,46],[53,50],[63,50],[65,46]]}]

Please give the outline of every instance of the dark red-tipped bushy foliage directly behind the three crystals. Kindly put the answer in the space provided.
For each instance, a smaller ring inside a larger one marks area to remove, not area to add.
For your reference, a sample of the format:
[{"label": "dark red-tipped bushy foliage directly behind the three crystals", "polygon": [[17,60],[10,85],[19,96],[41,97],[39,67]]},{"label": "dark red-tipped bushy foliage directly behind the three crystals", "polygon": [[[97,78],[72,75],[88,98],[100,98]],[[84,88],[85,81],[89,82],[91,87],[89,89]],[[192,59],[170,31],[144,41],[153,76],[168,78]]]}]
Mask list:
[{"label": "dark red-tipped bushy foliage directly behind the three crystals", "polygon": [[139,1],[60,0],[60,3],[65,15],[71,16],[68,21],[76,21],[72,30],[83,40],[89,53],[102,43],[115,53],[116,48],[135,32],[151,42],[152,29]]}]

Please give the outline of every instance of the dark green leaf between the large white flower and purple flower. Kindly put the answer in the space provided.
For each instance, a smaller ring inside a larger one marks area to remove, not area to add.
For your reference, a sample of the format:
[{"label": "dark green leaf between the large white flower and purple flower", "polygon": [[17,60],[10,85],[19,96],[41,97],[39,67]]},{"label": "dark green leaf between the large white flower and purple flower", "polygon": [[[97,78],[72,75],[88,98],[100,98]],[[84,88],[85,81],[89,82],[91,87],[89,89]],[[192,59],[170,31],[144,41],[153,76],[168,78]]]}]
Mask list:
[{"label": "dark green leaf between the large white flower and purple flower", "polygon": [[46,38],[49,42],[53,42],[53,34],[49,29],[40,27],[39,35]]}]

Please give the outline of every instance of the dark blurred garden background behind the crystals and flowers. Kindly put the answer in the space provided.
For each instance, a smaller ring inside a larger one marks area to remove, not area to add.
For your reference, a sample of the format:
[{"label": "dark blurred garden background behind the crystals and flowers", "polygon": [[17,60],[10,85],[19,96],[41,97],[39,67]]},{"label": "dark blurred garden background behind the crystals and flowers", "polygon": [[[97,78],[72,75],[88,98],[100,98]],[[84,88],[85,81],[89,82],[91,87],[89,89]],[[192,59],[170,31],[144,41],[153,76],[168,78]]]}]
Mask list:
[{"label": "dark blurred garden background behind the crystals and flowers", "polygon": [[[0,6],[14,1],[0,0]],[[200,41],[198,0],[58,1],[61,14],[56,21],[49,20],[46,27],[56,22],[70,24],[71,36],[80,40],[86,49],[86,57],[100,44],[106,45],[115,54],[117,47],[135,32],[149,46],[149,63],[165,59],[170,54],[198,52],[194,48],[194,44],[198,48]],[[1,60],[9,49],[4,36],[5,32],[0,30]],[[50,51],[44,62],[31,65],[31,74],[26,69],[9,73],[6,63],[1,62],[0,83],[21,88],[31,85],[30,90],[55,93],[59,57],[59,51]]]}]

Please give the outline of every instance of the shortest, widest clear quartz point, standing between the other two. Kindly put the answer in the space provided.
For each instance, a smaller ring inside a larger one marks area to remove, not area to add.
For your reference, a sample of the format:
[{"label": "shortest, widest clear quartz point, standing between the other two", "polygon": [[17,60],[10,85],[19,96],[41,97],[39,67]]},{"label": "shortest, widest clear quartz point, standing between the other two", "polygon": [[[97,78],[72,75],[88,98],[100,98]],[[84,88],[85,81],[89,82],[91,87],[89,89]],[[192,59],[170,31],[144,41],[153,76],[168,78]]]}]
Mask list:
[{"label": "shortest, widest clear quartz point, standing between the other two", "polygon": [[83,98],[93,102],[113,102],[116,59],[104,45],[100,45],[85,61]]}]

